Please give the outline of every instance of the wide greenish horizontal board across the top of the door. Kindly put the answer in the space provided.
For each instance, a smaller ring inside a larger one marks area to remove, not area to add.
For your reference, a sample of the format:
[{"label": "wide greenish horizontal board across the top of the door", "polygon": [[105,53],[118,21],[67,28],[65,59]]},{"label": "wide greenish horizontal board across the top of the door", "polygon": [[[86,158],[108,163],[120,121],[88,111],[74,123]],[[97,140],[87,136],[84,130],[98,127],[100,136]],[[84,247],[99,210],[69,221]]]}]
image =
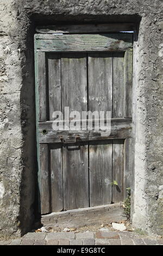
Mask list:
[{"label": "wide greenish horizontal board across the top of the door", "polygon": [[35,34],[36,48],[39,51],[131,51],[133,36],[130,33],[118,34],[78,34],[53,35]]}]

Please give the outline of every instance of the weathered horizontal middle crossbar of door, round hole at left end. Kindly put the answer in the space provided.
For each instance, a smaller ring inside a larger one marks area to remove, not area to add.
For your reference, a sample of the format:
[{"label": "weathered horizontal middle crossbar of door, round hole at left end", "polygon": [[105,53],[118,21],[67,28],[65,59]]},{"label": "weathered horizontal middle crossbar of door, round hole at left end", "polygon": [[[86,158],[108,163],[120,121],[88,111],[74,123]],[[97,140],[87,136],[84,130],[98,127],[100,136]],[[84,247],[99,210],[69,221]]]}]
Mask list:
[{"label": "weathered horizontal middle crossbar of door, round hole at left end", "polygon": [[[82,141],[94,141],[96,139],[118,139],[118,138],[131,138],[132,137],[132,120],[131,118],[112,118],[111,119],[111,133],[110,135],[104,134],[103,131],[95,130],[53,130],[53,121],[39,123],[39,142],[40,143],[59,143],[60,137],[65,140],[74,141],[77,135],[80,136]],[[85,124],[85,122],[84,122]],[[93,127],[95,122],[93,121]],[[47,134],[43,135],[42,131],[46,130]]]}]

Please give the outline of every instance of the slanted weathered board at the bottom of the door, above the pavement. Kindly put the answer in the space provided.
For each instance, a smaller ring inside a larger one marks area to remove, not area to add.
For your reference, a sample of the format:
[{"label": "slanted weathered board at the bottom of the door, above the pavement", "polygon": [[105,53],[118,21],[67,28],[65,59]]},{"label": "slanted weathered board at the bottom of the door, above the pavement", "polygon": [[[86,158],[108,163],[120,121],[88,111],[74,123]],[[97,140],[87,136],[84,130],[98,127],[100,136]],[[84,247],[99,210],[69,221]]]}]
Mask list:
[{"label": "slanted weathered board at the bottom of the door, above the pavement", "polygon": [[85,209],[57,212],[41,217],[43,226],[57,225],[59,228],[79,228],[88,225],[102,225],[126,220],[120,203],[101,205]]}]

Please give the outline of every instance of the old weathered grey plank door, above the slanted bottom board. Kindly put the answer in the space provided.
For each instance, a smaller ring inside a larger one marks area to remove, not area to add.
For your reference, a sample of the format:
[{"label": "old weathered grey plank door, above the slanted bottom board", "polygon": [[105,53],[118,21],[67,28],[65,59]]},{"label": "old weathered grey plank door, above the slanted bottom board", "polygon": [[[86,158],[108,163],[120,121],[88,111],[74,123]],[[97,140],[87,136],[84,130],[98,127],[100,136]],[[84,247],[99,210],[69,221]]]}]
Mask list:
[{"label": "old weathered grey plank door, above the slanted bottom board", "polygon": [[[132,66],[129,33],[35,35],[41,214],[125,198],[131,179]],[[53,130],[53,112],[64,113],[65,107],[81,114],[111,111],[110,135]]]}]

